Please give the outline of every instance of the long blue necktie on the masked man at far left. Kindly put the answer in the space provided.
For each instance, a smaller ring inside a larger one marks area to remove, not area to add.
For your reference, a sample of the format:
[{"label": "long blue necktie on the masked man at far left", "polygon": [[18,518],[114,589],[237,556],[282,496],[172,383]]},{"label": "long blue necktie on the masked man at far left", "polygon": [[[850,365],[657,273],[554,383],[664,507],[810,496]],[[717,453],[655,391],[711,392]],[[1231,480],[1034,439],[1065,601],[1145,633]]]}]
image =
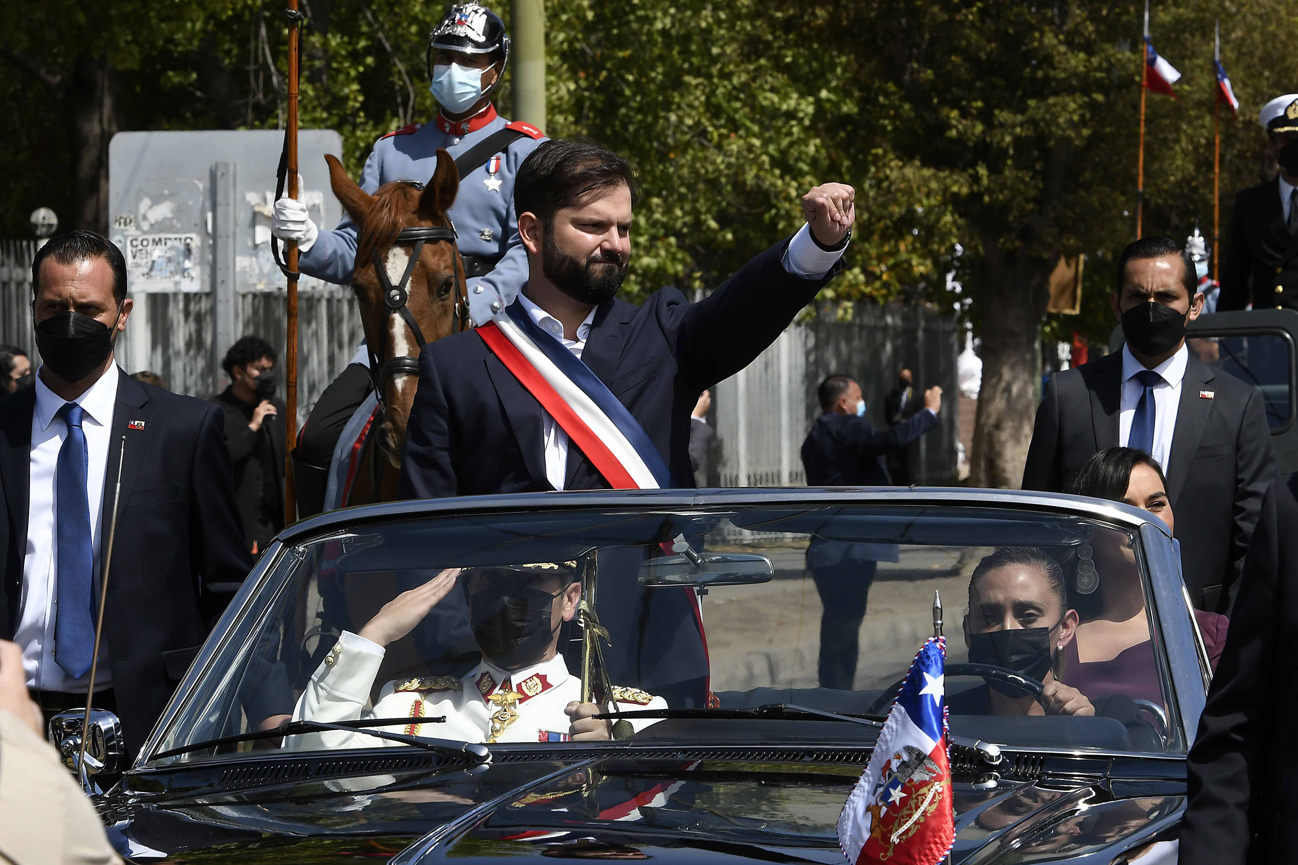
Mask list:
[{"label": "long blue necktie on the masked man at far left", "polygon": [[86,495],[84,411],[73,402],[58,410],[67,424],[67,437],[58,449],[55,469],[55,537],[58,542],[58,586],[55,613],[55,659],[73,678],[90,670],[95,652],[95,621],[91,586],[95,550],[90,538],[90,501]]}]

